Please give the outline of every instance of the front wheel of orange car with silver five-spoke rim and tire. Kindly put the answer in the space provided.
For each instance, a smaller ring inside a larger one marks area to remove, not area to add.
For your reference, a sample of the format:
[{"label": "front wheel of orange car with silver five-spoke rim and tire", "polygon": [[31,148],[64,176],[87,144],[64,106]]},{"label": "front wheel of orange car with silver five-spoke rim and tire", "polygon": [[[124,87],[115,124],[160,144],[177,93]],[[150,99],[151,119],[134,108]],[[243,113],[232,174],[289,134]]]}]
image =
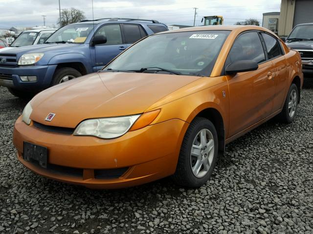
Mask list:
[{"label": "front wheel of orange car with silver five-spoke rim and tire", "polygon": [[200,187],[211,177],[218,157],[218,137],[211,121],[196,117],[182,141],[174,182]]}]

